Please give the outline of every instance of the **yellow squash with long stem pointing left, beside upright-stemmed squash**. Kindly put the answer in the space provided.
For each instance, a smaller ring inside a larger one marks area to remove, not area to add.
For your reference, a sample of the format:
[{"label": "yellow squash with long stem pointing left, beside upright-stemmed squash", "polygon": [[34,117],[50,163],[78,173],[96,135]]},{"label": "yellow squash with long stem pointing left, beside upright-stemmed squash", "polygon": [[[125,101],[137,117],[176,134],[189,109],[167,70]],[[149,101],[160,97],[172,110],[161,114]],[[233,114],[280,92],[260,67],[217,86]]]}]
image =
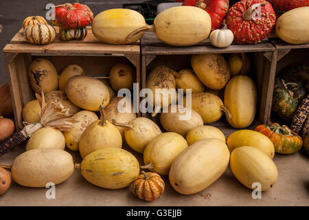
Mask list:
[{"label": "yellow squash with long stem pointing left, beside upright-stemmed squash", "polygon": [[[115,122],[113,122],[115,124]],[[124,138],[130,148],[138,153],[144,153],[147,144],[162,132],[155,122],[148,118],[140,117],[130,120],[128,124],[117,123],[115,125],[124,127]]]}]

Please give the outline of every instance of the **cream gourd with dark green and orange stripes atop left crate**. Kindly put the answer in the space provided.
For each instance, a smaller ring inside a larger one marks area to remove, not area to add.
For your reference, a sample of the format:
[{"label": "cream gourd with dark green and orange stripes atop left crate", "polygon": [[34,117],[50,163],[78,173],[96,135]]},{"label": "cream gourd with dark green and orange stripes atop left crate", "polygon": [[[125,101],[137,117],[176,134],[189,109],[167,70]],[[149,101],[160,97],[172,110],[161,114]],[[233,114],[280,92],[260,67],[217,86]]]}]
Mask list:
[{"label": "cream gourd with dark green and orange stripes atop left crate", "polygon": [[56,39],[56,30],[51,25],[37,23],[36,25],[27,26],[23,36],[29,43],[49,44]]}]

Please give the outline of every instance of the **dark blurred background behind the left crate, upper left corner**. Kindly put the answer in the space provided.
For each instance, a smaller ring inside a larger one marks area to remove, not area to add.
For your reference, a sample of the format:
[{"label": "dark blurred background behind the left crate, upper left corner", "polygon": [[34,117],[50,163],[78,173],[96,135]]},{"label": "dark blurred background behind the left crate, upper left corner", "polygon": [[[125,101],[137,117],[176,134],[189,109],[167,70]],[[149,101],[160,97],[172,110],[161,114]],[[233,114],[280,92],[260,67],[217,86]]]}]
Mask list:
[{"label": "dark blurred background behind the left crate, upper left corner", "polygon": [[[23,19],[28,16],[40,15],[45,17],[47,3],[58,5],[61,3],[79,2],[86,4],[91,8],[93,16],[110,8],[122,8],[123,3],[141,3],[144,0],[85,0],[85,1],[69,1],[69,0],[0,0],[0,24],[2,31],[0,33],[0,47],[10,43],[10,39],[18,32],[23,25]],[[3,54],[0,57],[0,85],[6,83],[6,69]]]}]

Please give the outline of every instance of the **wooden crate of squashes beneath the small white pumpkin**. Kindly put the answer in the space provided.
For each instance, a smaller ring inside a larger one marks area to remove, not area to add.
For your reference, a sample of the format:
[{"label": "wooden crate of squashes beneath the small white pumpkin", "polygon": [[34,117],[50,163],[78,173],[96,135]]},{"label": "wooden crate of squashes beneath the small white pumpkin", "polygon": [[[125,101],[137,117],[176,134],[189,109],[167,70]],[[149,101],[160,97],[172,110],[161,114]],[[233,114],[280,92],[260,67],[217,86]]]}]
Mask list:
[{"label": "wooden crate of squashes beneath the small white pumpkin", "polygon": [[[227,48],[211,46],[209,39],[194,47],[170,47],[165,45],[153,33],[144,34],[141,39],[141,88],[146,88],[146,76],[153,67],[166,65],[176,71],[190,68],[190,56],[192,54],[223,54],[246,52],[251,55],[254,73],[251,73],[258,85],[258,111],[255,121],[249,129],[257,124],[268,123],[271,114],[271,99],[275,80],[277,50],[273,44],[264,39],[256,45],[231,45]],[[223,116],[218,122],[211,124],[220,128],[225,135],[229,135],[233,129]]]}]

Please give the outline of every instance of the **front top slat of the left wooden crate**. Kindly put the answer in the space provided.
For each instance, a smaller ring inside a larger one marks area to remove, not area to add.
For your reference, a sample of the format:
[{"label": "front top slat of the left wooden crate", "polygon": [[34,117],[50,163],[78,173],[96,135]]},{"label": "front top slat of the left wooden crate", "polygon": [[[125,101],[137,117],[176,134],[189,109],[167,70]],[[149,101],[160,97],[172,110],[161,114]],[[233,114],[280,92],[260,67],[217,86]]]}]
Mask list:
[{"label": "front top slat of the left wooden crate", "polygon": [[49,45],[8,44],[3,52],[46,54],[139,54],[137,45],[107,45],[84,43],[53,43]]}]

